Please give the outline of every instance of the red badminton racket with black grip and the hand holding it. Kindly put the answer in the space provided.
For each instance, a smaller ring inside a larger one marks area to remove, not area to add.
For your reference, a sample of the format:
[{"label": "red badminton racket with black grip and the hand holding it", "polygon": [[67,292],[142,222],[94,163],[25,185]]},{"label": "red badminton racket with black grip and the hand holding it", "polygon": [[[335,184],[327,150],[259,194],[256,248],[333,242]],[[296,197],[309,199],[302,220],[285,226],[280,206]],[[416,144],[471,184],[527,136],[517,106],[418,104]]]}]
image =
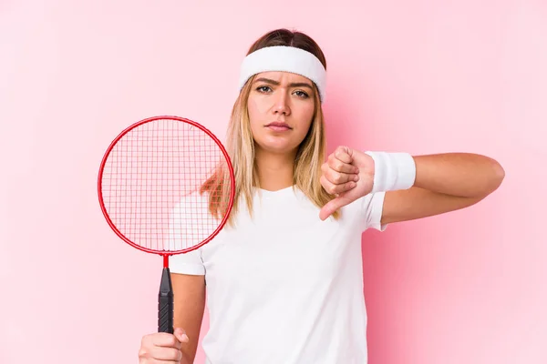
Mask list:
[{"label": "red badminton racket with black grip and the hand holding it", "polygon": [[180,350],[183,340],[173,335],[169,257],[200,248],[216,236],[228,220],[234,194],[226,150],[209,130],[189,119],[141,120],[108,147],[98,173],[99,203],[108,225],[132,247],[163,257],[158,333],[145,337],[143,345],[152,352],[150,358]]}]

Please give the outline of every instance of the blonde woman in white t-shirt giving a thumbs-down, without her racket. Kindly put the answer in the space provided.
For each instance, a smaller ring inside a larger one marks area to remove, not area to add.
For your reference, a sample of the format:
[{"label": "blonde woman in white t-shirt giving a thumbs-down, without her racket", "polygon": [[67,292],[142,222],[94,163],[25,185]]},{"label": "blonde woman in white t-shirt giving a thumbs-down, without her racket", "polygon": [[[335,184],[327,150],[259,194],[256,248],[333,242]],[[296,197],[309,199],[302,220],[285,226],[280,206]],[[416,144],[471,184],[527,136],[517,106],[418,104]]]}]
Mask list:
[{"label": "blonde woman in white t-shirt giving a thumbs-down, without her racket", "polygon": [[362,232],[470,207],[500,186],[503,168],[480,155],[342,146],[325,158],[325,69],[299,32],[252,45],[228,131],[229,225],[171,258],[177,329],[144,336],[140,364],[193,362],[206,292],[208,363],[366,363]]}]

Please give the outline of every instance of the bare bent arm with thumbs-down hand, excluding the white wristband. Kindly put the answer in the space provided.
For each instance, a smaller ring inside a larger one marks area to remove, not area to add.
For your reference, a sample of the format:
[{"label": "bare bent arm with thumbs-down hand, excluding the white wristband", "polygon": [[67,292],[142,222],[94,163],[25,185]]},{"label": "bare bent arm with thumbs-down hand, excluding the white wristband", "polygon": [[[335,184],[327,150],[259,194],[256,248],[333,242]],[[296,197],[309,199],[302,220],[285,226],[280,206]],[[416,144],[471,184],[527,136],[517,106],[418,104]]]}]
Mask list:
[{"label": "bare bent arm with thumbs-down hand, excluding the white wristband", "polygon": [[[479,154],[443,153],[413,158],[414,185],[386,192],[382,225],[470,207],[500,187],[505,177],[500,163]],[[339,196],[321,208],[322,220],[370,193],[377,172],[375,163],[365,152],[336,148],[321,166],[321,184],[328,193]]]}]

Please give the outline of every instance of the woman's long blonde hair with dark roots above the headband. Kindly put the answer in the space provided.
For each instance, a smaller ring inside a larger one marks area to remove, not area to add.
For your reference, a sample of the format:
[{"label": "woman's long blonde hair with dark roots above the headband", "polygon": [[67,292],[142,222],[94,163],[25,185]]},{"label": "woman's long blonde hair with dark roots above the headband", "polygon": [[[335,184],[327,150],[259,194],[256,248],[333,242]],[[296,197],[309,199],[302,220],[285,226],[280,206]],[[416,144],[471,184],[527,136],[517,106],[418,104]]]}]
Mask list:
[{"label": "woman's long blonde hair with dark roots above the headband", "polygon": [[[287,34],[289,32],[289,34]],[[292,37],[291,37],[292,35]],[[294,44],[294,36],[304,38],[305,44],[315,44],[307,35],[293,33],[286,29],[270,32],[263,35],[261,39],[249,50],[249,53],[267,45],[280,44],[280,37],[291,37],[289,43]],[[285,40],[285,39],[283,39]],[[317,53],[318,45],[315,47]],[[319,53],[321,51],[319,50]],[[325,65],[325,57],[320,53],[320,58]],[[233,227],[234,219],[241,211],[240,204],[246,203],[247,210],[253,215],[253,193],[255,188],[260,187],[257,168],[254,158],[254,140],[251,130],[251,123],[247,109],[247,103],[254,77],[251,77],[245,86],[243,86],[239,96],[232,107],[232,116],[227,130],[226,151],[232,161],[233,173],[235,177],[235,196],[233,199],[232,211],[228,217],[227,224]],[[298,147],[294,159],[294,187],[299,188],[306,197],[308,197],[316,207],[323,207],[328,201],[334,198],[321,185],[321,165],[325,160],[326,138],[325,138],[325,119],[321,107],[319,92],[313,84],[315,97],[315,110],[310,128],[304,137],[304,140]],[[216,172],[210,177],[200,189],[200,193],[209,192],[209,210],[214,217],[222,218],[225,216],[228,207],[230,195],[230,173],[226,167],[217,168]],[[340,216],[339,211],[332,215],[335,218]]]}]

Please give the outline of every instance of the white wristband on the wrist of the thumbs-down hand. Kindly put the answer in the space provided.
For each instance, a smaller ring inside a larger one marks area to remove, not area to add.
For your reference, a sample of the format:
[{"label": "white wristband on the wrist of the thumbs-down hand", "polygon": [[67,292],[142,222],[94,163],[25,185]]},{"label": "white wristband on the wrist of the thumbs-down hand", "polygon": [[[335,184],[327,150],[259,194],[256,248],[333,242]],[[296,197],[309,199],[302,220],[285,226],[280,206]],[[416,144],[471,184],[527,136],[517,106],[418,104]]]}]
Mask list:
[{"label": "white wristband on the wrist of the thumbs-down hand", "polygon": [[416,181],[416,163],[408,153],[365,152],[374,160],[371,193],[408,189]]}]

